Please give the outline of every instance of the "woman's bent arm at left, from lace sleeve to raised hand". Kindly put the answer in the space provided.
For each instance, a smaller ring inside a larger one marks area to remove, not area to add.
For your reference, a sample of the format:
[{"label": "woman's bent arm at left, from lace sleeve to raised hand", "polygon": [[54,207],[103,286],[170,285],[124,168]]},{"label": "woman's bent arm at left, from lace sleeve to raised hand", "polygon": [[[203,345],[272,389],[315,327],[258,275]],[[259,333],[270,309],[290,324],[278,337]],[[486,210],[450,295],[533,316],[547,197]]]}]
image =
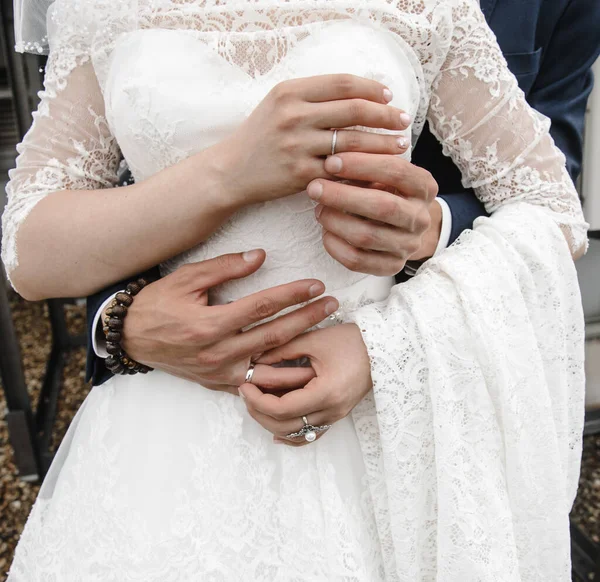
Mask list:
[{"label": "woman's bent arm at left, from lace sleeve to raised hand", "polygon": [[[330,127],[407,126],[380,83],[296,79],[277,85],[224,142],[115,189],[120,153],[93,67],[74,67],[59,88],[54,61],[51,54],[52,84],[19,146],[3,218],[3,259],[28,299],[88,295],[197,245],[241,206],[303,190],[327,175]],[[344,148],[395,154],[406,146],[393,135],[346,131]]]}]

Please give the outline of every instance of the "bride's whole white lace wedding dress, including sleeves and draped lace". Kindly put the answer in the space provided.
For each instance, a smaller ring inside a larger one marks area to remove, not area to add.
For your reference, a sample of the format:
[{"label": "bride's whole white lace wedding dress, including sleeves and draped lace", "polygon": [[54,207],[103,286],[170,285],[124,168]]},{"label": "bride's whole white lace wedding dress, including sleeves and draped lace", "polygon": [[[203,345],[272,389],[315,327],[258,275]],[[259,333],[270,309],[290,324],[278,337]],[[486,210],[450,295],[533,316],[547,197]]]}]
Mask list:
[{"label": "bride's whole white lace wedding dress, including sleeves and draped lace", "polygon": [[494,217],[393,289],[329,258],[304,193],[164,264],[265,248],[217,302],[323,280],[360,326],[373,394],[296,449],[230,394],[113,378],[73,421],[9,580],[569,580],[583,415],[570,252],[586,225],[476,0],[57,0],[50,22],[3,218],[9,274],[44,196],[113,186],[121,156],[144,180],[229,135],[278,82],[322,73],[387,84],[413,140],[428,119]]}]

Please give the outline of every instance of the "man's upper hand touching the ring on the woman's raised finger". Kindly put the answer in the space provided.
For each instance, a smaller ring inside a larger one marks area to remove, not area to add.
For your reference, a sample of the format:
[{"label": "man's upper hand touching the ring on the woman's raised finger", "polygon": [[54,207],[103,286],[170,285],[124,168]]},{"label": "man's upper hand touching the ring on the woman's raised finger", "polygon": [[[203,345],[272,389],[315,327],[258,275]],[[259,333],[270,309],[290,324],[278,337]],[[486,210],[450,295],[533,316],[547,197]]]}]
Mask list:
[{"label": "man's upper hand touching the ring on the woman's raised finger", "polygon": [[[430,257],[437,246],[441,208],[437,182],[397,156],[348,152],[331,156],[308,195],[319,202],[327,252],[352,271],[395,275],[409,258]],[[350,180],[343,183],[339,180]]]}]

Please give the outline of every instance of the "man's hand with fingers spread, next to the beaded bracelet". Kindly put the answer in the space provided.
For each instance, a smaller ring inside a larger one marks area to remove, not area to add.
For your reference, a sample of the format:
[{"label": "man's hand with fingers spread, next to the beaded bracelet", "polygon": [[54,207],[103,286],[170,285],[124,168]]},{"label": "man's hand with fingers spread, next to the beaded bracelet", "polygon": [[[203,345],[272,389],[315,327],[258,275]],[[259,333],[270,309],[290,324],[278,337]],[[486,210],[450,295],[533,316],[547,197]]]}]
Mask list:
[{"label": "man's hand with fingers spread, next to the beaded bracelet", "polygon": [[[251,275],[264,260],[262,250],[223,255],[185,265],[151,283],[128,310],[123,348],[148,366],[237,394],[251,358],[289,342],[339,306],[334,298],[323,297],[299,307],[325,291],[314,279],[266,289],[227,305],[208,305],[211,287]],[[288,307],[299,308],[241,331]],[[257,365],[253,379],[262,386],[290,389],[313,377],[312,368]]]}]

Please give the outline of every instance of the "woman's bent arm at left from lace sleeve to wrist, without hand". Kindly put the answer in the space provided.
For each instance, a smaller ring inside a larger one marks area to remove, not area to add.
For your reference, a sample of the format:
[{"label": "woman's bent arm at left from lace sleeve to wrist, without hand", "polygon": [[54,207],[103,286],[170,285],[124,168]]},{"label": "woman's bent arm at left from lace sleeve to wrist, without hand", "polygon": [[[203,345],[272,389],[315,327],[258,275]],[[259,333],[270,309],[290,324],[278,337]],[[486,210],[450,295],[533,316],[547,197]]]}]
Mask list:
[{"label": "woman's bent arm at left from lace sleeve to wrist, without hand", "polygon": [[234,210],[214,151],[113,187],[120,151],[89,62],[47,87],[19,152],[3,259],[27,299],[93,292],[197,244]]}]

